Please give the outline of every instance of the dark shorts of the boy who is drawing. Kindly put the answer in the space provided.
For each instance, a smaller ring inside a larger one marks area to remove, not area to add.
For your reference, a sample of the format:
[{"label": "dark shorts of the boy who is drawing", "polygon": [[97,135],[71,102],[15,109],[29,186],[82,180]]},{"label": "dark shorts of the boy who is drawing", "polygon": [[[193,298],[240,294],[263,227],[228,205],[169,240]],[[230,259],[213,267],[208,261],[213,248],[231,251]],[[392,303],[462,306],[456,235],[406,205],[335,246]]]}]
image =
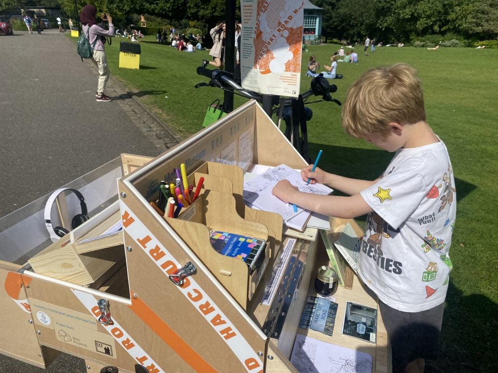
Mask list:
[{"label": "dark shorts of the boy who is drawing", "polygon": [[421,312],[402,312],[378,301],[392,349],[392,373],[416,359],[436,360],[444,303]]}]

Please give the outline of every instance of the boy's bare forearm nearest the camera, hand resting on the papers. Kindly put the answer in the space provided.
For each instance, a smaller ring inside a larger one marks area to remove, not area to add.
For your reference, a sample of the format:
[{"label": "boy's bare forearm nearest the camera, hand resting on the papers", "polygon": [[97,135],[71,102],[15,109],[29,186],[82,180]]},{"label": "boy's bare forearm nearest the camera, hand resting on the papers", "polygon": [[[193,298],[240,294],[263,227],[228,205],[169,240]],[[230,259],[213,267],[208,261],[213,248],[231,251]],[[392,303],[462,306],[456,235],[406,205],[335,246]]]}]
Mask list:
[{"label": "boy's bare forearm nearest the camera, hand resting on the papers", "polygon": [[321,195],[297,190],[287,180],[281,180],[272,190],[273,195],[287,203],[327,216],[352,219],[372,212],[372,207],[360,194],[348,197]]}]

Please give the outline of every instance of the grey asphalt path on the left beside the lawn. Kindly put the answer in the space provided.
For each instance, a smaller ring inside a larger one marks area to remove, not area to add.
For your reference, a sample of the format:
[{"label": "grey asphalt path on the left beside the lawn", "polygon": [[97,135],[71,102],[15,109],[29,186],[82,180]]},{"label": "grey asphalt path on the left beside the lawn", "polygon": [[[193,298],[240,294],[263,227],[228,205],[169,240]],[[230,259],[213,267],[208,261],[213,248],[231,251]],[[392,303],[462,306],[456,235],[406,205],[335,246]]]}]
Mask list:
[{"label": "grey asphalt path on the left beside the lawn", "polygon": [[[115,99],[96,102],[95,66],[58,29],[0,35],[0,51],[0,217],[121,153],[157,156],[179,141],[113,79]],[[47,370],[0,355],[0,373],[73,372],[84,362],[65,354]]]}]

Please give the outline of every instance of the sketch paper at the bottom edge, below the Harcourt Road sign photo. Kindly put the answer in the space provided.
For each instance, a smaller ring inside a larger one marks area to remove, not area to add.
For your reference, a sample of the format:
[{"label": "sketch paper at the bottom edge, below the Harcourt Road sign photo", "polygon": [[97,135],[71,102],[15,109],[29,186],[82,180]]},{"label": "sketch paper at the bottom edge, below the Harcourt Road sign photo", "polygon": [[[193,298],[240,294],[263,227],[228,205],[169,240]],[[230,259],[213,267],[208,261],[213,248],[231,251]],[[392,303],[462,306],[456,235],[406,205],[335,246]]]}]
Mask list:
[{"label": "sketch paper at the bottom edge, below the Harcourt Road sign photo", "polygon": [[364,352],[297,334],[290,362],[299,373],[372,373],[373,358]]}]

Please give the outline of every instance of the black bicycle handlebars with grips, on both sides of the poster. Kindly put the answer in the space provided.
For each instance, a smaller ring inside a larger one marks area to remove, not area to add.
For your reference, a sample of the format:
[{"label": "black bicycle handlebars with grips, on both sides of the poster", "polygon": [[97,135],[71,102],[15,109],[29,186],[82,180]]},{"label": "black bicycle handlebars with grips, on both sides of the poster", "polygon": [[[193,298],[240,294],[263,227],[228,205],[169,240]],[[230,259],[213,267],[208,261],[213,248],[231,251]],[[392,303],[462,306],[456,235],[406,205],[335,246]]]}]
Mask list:
[{"label": "black bicycle handlebars with grips, on both sides of the poster", "polygon": [[[237,82],[235,82],[233,79],[234,75],[232,73],[229,73],[228,71],[219,70],[219,69],[211,70],[199,66],[197,68],[197,74],[211,79],[209,85],[212,87],[218,87],[227,91],[236,91],[241,96],[250,99],[255,99],[258,102],[262,102],[263,100],[263,95],[261,93],[246,90],[242,88],[239,84],[237,84]],[[204,85],[205,84],[198,84],[195,87],[199,88]],[[314,77],[313,80],[311,81],[310,89],[302,93],[301,96],[303,97],[303,99],[308,98],[311,95],[322,96],[322,99],[325,101],[332,101],[337,103],[338,105],[341,105],[341,102],[339,102],[335,98],[332,98],[330,95],[330,93],[334,93],[336,91],[337,91],[337,86],[335,84],[330,85],[329,81],[326,78],[324,78],[322,75],[318,75]],[[286,102],[286,104],[289,103],[290,100]]]}]

